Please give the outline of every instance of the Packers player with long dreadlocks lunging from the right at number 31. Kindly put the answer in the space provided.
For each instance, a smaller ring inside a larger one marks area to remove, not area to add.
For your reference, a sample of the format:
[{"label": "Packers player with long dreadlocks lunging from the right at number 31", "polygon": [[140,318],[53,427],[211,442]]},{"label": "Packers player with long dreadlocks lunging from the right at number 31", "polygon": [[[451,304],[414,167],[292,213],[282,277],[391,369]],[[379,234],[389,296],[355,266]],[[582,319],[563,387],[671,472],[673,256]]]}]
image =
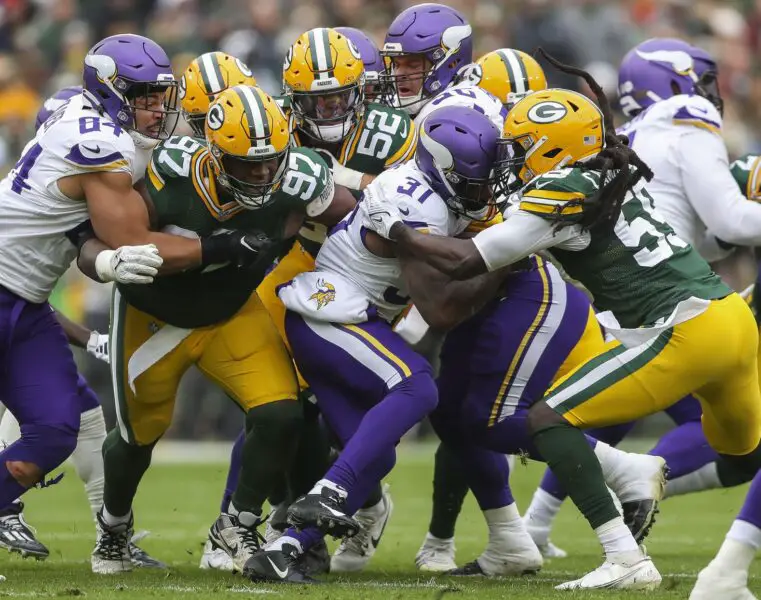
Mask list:
[{"label": "Packers player with long dreadlocks lunging from the right at number 31", "polygon": [[[537,449],[606,554],[601,567],[559,587],[654,588],[660,575],[625,530],[579,427],[628,422],[695,391],[708,441],[755,473],[758,332],[747,304],[653,211],[639,181],[652,173],[615,135],[602,90],[585,79],[604,114],[579,94],[548,90],[508,115],[497,170],[506,192],[522,189],[504,223],[456,240],[420,235],[396,207],[372,198],[365,210],[402,251],[450,277],[467,279],[552,249],[590,290],[603,311],[598,320],[618,341],[556,382],[528,419]],[[724,348],[718,360],[717,344]]]}]

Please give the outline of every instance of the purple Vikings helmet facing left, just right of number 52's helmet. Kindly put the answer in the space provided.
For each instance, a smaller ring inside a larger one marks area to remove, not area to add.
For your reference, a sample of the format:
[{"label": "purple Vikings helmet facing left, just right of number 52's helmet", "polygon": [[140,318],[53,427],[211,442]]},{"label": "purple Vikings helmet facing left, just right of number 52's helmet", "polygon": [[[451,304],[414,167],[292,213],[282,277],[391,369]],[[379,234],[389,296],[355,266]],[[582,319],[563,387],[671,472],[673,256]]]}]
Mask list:
[{"label": "purple Vikings helmet facing left, just right of number 52's helmet", "polygon": [[[449,6],[418,4],[402,11],[391,23],[381,56],[386,63],[394,104],[416,115],[432,96],[455,80],[461,69],[473,62],[472,29]],[[395,61],[409,56],[425,58],[428,65],[411,71]],[[415,91],[418,85],[420,88]]]}]

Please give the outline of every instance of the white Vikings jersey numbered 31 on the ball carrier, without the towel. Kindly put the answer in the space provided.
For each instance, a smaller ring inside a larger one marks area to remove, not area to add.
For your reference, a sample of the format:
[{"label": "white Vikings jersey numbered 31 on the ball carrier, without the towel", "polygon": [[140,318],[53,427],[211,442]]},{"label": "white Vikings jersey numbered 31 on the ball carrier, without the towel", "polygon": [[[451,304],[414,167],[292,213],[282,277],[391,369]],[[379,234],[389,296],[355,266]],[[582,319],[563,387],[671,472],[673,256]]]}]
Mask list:
[{"label": "white Vikings jersey numbered 31 on the ball carrier, without the towel", "polygon": [[[407,225],[433,235],[458,235],[471,222],[447,208],[444,200],[426,183],[414,161],[384,171],[364,193],[377,194],[386,202],[394,203]],[[409,304],[410,298],[399,260],[372,254],[364,243],[367,232],[358,205],[322,245],[316,270],[338,273],[349,279],[364,292],[378,314],[390,321]]]}]

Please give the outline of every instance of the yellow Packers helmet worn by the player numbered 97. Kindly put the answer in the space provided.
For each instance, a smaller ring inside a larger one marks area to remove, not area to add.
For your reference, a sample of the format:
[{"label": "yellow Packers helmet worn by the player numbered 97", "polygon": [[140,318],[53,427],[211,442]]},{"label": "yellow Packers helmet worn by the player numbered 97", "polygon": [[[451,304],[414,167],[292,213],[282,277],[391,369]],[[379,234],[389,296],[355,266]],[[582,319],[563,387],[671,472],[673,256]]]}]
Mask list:
[{"label": "yellow Packers helmet worn by the player numbered 97", "polygon": [[217,182],[245,208],[267,206],[291,147],[288,119],[277,103],[261,88],[236,85],[217,94],[205,129]]}]

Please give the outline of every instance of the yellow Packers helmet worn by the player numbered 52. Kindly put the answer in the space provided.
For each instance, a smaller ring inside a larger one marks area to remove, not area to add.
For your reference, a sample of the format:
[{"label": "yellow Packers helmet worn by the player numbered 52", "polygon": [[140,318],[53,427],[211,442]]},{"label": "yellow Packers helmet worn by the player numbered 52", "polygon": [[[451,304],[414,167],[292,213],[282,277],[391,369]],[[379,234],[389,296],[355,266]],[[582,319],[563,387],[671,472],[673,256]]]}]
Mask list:
[{"label": "yellow Packers helmet worn by the player numbered 52", "polygon": [[335,29],[307,31],[288,50],[283,89],[296,126],[313,138],[339,142],[364,112],[365,66],[359,50]]}]

